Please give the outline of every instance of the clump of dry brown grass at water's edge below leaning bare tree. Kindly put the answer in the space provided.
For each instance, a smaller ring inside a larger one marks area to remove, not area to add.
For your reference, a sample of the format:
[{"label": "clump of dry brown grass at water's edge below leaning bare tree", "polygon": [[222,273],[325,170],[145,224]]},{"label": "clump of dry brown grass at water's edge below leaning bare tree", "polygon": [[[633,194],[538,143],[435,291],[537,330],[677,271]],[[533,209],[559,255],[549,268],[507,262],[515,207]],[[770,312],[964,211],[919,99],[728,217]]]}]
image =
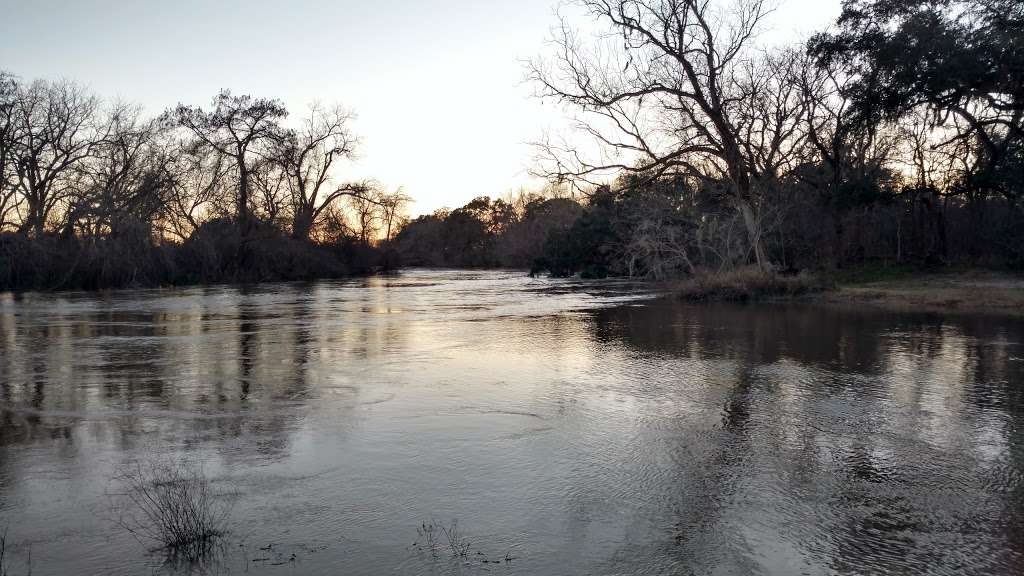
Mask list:
[{"label": "clump of dry brown grass at water's edge below leaning bare tree", "polygon": [[700,274],[684,282],[677,295],[689,301],[750,301],[792,298],[824,291],[831,287],[827,280],[801,273],[784,276],[765,272],[757,266]]}]

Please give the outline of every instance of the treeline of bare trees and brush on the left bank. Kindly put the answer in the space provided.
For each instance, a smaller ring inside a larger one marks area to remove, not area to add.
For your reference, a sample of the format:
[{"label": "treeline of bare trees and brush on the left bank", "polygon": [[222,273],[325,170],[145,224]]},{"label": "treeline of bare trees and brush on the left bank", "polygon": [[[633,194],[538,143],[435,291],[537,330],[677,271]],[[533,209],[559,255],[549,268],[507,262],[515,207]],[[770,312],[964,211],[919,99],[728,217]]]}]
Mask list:
[{"label": "treeline of bare trees and brush on the left bank", "polygon": [[0,290],[299,280],[385,266],[409,198],[339,181],[342,108],[217,94],[156,117],[0,73]]}]

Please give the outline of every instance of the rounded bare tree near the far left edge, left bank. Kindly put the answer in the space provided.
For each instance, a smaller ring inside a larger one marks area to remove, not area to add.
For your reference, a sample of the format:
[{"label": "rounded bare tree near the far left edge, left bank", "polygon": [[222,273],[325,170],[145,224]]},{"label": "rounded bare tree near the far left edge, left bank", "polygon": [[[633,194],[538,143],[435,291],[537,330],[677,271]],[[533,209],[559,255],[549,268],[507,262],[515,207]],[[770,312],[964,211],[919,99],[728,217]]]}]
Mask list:
[{"label": "rounded bare tree near the far left edge, left bank", "polygon": [[36,236],[74,193],[70,179],[105,138],[97,126],[99,100],[71,82],[37,80],[17,91],[12,150],[27,214],[20,230]]}]

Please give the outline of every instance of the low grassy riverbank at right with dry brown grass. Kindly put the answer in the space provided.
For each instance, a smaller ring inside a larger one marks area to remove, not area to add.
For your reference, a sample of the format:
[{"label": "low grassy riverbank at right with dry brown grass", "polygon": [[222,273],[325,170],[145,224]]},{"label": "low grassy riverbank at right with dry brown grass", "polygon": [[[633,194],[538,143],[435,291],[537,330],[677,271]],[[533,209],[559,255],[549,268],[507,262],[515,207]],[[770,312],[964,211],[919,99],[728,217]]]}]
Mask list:
[{"label": "low grassy riverbank at right with dry brown grass", "polygon": [[902,312],[1024,316],[1024,275],[909,266],[765,275],[756,269],[688,280],[671,288],[689,301],[801,300]]}]

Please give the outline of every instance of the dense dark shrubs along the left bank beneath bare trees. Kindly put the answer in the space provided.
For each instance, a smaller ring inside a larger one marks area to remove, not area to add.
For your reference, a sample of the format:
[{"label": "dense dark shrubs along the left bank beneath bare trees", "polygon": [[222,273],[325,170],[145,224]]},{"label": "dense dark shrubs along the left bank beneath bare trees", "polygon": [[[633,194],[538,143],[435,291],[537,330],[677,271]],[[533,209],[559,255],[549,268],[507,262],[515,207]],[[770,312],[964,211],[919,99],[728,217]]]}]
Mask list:
[{"label": "dense dark shrubs along the left bank beneath bare trees", "polygon": [[144,228],[79,238],[0,235],[0,290],[71,290],[341,278],[385,268],[384,252],[355,240],[295,240],[268,225],[242,234],[231,220],[200,227],[183,243]]}]

